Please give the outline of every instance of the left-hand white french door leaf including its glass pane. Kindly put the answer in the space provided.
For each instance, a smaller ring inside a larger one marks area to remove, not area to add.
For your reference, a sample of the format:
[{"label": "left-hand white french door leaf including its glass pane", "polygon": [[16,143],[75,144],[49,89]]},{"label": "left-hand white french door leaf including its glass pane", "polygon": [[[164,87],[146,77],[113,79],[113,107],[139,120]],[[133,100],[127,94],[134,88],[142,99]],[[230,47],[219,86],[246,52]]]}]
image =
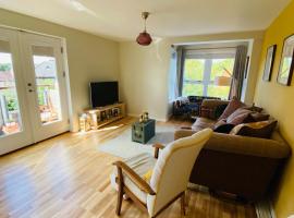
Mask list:
[{"label": "left-hand white french door leaf including its glass pane", "polygon": [[0,155],[32,144],[19,33],[0,27]]}]

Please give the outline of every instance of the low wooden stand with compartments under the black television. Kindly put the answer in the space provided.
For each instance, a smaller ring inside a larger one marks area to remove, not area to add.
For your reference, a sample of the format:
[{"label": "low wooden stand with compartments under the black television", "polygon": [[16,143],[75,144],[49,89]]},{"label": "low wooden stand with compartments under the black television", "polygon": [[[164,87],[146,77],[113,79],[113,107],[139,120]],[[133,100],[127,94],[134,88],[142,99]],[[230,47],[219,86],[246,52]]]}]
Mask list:
[{"label": "low wooden stand with compartments under the black television", "polygon": [[85,110],[90,117],[90,128],[99,129],[125,117],[125,104],[114,104],[106,107],[98,107]]}]

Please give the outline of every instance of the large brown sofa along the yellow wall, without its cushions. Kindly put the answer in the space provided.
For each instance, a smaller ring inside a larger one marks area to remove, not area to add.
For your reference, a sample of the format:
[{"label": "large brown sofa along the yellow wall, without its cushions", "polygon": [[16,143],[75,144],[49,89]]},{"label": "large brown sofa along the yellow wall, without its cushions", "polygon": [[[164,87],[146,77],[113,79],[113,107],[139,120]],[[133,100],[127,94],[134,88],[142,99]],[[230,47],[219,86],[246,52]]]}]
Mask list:
[{"label": "large brown sofa along the yellow wall, without its cushions", "polygon": [[[213,117],[221,100],[205,100],[203,114]],[[205,128],[211,128],[217,121],[198,118],[192,130],[179,130],[174,137],[188,136]],[[274,131],[270,140],[213,133],[197,158],[191,174],[191,182],[235,194],[248,201],[265,197],[272,181],[290,155],[290,147]]]}]

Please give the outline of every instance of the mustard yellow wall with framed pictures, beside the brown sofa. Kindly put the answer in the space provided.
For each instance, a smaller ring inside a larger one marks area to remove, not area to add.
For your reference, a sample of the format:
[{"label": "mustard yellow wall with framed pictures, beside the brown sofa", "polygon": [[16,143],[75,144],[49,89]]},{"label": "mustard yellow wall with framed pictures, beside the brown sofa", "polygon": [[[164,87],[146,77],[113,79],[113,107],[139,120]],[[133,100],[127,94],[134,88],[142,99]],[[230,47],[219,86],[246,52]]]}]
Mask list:
[{"label": "mustard yellow wall with framed pictures, beside the brown sofa", "polygon": [[[286,87],[277,83],[283,40],[294,34],[294,1],[280,14],[266,32],[255,101],[278,119],[280,130],[294,149],[294,81]],[[271,82],[262,81],[267,48],[278,45]],[[278,218],[294,214],[294,158],[292,157],[283,173],[273,206]]]}]

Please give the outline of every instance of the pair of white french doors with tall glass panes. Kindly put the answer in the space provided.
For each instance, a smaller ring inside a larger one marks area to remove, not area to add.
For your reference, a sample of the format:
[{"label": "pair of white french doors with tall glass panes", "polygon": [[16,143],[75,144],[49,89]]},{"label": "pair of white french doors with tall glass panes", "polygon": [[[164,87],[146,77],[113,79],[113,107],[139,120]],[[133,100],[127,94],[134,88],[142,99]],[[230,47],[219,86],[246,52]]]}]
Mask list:
[{"label": "pair of white french doors with tall glass panes", "polygon": [[69,130],[59,38],[0,28],[0,154]]}]

